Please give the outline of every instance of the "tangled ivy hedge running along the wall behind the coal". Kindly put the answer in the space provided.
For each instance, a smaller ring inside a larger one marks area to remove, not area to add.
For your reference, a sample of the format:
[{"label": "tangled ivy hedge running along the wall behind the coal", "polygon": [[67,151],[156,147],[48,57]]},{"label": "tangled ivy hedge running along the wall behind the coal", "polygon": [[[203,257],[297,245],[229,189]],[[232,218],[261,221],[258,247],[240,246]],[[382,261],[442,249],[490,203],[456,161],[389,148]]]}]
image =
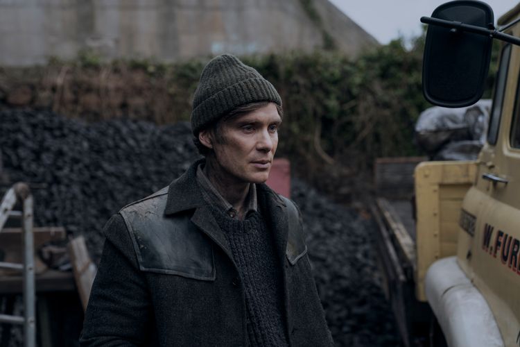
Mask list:
[{"label": "tangled ivy hedge running along the wall behind the coal", "polygon": [[[291,159],[298,176],[319,186],[324,173],[354,178],[370,171],[374,158],[420,154],[413,128],[419,113],[431,106],[422,96],[423,48],[424,37],[417,37],[408,48],[394,40],[356,59],[333,51],[241,58],[268,78],[284,101],[279,153]],[[73,62],[3,68],[0,106],[52,109],[87,121],[187,121],[208,60],[102,62],[85,52]],[[496,65],[489,85],[494,70]]]}]

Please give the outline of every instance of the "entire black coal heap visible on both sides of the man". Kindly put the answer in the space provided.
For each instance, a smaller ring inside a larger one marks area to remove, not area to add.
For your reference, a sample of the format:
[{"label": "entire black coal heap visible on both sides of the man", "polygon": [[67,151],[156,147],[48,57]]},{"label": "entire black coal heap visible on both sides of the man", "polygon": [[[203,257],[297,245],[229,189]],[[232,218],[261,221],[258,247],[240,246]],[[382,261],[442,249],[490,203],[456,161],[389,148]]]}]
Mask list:
[{"label": "entire black coal heap visible on both sides of the man", "polygon": [[[10,180],[40,187],[33,189],[35,224],[85,235],[96,260],[107,219],[168,185],[198,158],[188,123],[110,119],[85,124],[50,111],[3,110],[0,124]],[[374,225],[300,180],[293,180],[292,189],[336,346],[397,346],[376,268]]]}]

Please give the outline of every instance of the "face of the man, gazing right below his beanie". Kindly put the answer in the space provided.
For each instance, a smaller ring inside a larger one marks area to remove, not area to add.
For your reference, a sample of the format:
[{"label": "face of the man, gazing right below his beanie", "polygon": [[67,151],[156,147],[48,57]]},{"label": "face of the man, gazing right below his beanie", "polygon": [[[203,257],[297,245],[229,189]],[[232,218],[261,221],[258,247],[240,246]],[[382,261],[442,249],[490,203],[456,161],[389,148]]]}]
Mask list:
[{"label": "face of the man, gazing right below his beanie", "polygon": [[264,183],[278,145],[281,118],[275,103],[227,119],[211,136],[214,169],[227,183]]}]

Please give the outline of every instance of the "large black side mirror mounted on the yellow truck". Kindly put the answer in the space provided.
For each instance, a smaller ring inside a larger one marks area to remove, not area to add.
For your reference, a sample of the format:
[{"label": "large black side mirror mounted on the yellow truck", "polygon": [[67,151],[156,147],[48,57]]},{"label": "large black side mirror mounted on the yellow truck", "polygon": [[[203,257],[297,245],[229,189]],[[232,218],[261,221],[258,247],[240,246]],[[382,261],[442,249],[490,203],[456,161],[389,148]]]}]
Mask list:
[{"label": "large black side mirror mounted on the yellow truck", "polygon": [[[487,3],[471,0],[444,3],[431,17],[483,29],[493,28],[494,20]],[[422,67],[426,100],[449,108],[476,103],[484,92],[491,51],[491,36],[430,24]]]}]

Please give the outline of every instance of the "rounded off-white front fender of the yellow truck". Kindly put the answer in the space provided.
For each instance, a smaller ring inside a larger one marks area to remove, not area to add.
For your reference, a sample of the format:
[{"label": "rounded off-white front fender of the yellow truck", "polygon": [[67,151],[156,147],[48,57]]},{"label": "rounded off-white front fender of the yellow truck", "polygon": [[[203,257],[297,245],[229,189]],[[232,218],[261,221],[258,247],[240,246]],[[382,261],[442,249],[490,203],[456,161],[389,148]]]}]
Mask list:
[{"label": "rounded off-white front fender of the yellow truck", "polygon": [[489,305],[460,269],[456,257],[434,262],[424,285],[448,346],[504,346]]}]

